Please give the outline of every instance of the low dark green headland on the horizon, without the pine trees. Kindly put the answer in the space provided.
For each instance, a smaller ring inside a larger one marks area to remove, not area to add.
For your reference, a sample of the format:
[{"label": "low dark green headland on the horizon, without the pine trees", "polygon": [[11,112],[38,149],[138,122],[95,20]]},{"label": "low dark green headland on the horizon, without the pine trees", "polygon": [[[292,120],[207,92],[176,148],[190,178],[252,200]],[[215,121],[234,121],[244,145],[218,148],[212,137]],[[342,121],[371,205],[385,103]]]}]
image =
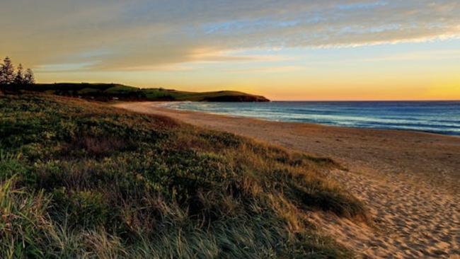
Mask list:
[{"label": "low dark green headland on the horizon, without the pine trees", "polygon": [[136,88],[120,84],[36,84],[30,91],[45,92],[59,96],[79,96],[97,100],[191,100],[216,102],[266,102],[263,96],[237,91],[194,93],[163,88]]}]

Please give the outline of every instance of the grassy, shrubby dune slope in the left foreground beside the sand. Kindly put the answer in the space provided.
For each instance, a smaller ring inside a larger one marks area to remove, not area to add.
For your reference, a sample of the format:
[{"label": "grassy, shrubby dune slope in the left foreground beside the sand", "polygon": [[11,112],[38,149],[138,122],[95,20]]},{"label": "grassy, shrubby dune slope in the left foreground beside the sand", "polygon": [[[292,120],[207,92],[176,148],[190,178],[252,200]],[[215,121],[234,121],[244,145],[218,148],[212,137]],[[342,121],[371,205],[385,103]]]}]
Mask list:
[{"label": "grassy, shrubby dune slope in the left foreground beside the sand", "polygon": [[[109,88],[110,89],[110,88]],[[0,94],[0,258],[348,258],[335,163],[56,96]]]}]

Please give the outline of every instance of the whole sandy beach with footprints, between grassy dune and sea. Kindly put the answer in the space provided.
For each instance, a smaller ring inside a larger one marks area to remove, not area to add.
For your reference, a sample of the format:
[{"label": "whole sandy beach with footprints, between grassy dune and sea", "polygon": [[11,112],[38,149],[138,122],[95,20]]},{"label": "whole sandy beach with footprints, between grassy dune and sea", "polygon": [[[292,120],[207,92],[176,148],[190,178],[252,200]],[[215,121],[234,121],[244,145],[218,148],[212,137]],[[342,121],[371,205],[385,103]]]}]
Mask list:
[{"label": "whole sandy beach with footprints, between grassy dune and sea", "polygon": [[360,257],[460,258],[460,137],[269,122],[160,105],[115,104],[338,161],[347,170],[330,177],[367,204],[375,224],[318,212],[310,218]]}]

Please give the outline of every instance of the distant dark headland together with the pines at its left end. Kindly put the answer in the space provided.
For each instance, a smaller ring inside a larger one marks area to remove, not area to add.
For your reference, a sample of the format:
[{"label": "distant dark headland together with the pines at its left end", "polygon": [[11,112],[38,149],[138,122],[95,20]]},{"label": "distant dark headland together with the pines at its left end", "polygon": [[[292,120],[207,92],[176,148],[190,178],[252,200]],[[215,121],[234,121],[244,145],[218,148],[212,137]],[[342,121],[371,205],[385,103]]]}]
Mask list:
[{"label": "distant dark headland together with the pines at its left end", "polygon": [[263,96],[238,91],[204,93],[176,91],[165,88],[138,88],[122,84],[54,83],[35,84],[32,69],[16,69],[9,57],[0,63],[0,91],[33,91],[57,96],[71,96],[93,100],[190,100],[208,102],[268,102]]}]

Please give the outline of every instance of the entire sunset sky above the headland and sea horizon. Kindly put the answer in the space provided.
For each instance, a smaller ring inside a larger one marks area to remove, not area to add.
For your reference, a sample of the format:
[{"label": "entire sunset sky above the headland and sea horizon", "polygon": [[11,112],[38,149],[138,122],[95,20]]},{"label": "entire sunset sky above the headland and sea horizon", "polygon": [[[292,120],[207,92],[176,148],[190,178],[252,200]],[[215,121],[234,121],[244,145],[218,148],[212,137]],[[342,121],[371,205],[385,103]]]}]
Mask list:
[{"label": "entire sunset sky above the headland and sea horizon", "polygon": [[1,0],[40,83],[272,100],[460,100],[458,0]]}]

